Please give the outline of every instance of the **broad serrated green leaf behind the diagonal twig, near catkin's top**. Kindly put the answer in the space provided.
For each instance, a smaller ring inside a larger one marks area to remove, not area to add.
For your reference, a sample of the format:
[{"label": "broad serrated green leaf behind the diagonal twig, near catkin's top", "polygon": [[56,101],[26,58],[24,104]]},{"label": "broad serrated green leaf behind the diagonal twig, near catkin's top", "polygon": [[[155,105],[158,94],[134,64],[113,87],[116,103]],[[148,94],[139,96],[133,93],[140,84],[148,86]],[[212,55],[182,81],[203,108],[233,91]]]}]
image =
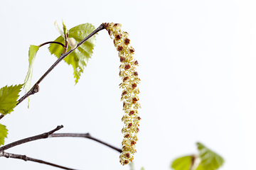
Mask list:
[{"label": "broad serrated green leaf behind the diagonal twig, near catkin's top", "polygon": [[[81,24],[68,30],[68,37],[75,38],[75,41],[78,43],[87,35],[92,33],[93,30],[95,30],[95,27],[92,26],[92,24]],[[55,41],[65,44],[64,38],[62,36],[58,37]],[[73,66],[75,84],[78,83],[78,79],[80,79],[81,73],[84,71],[89,58],[92,57],[92,50],[95,47],[95,43],[96,38],[95,35],[93,35],[92,38],[84,42],[64,59],[65,62]],[[68,50],[70,50],[70,46],[68,46]],[[63,47],[52,43],[50,44],[49,51],[56,57],[60,57],[60,55],[63,53]]]}]

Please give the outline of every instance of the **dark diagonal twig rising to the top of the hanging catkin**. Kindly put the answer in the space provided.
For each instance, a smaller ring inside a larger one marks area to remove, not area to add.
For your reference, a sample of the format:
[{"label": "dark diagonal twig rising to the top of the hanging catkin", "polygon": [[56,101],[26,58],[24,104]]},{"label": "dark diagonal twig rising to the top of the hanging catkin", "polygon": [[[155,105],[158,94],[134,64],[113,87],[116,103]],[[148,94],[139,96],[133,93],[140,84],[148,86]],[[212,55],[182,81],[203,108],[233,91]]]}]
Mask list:
[{"label": "dark diagonal twig rising to the top of the hanging catkin", "polygon": [[[53,65],[46,71],[45,74],[43,74],[43,76],[36,82],[36,84],[33,85],[33,87],[24,95],[22,96],[19,100],[18,103],[16,104],[16,106],[18,106],[18,104],[20,104],[23,100],[25,100],[26,98],[28,98],[28,96],[31,96],[32,94],[36,94],[39,91],[39,84],[41,83],[41,81],[43,81],[43,79],[59,64],[59,62],[61,60],[63,60],[65,57],[67,57],[71,52],[73,52],[75,49],[77,49],[80,45],[82,45],[83,42],[87,41],[89,38],[91,38],[93,35],[95,35],[97,32],[99,32],[100,30],[103,30],[105,28],[104,24],[102,23],[98,28],[96,28],[94,31],[92,31],[92,33],[90,33],[90,35],[88,35],[85,39],[81,40],[77,47],[75,47],[73,50],[69,50],[68,52],[66,52],[65,54],[60,55],[60,57],[58,58],[58,60],[53,63]],[[4,115],[1,114],[0,115],[0,120],[1,118],[4,118]]]}]

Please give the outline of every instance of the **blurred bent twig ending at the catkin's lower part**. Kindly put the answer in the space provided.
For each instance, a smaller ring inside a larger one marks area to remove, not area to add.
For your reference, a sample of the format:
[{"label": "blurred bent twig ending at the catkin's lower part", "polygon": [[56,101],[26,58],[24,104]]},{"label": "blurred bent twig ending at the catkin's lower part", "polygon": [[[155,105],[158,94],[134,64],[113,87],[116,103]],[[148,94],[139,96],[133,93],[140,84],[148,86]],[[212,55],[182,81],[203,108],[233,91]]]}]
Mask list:
[{"label": "blurred bent twig ending at the catkin's lower part", "polygon": [[119,149],[117,147],[114,147],[110,144],[107,144],[106,142],[103,142],[102,140],[98,140],[96,139],[95,137],[92,137],[90,135],[90,133],[53,133],[53,135],[50,135],[50,137],[85,137],[87,139],[90,139],[90,140],[94,140],[96,142],[99,142],[107,147],[110,147],[114,150],[116,150],[117,152],[120,152],[122,153],[122,149]]}]

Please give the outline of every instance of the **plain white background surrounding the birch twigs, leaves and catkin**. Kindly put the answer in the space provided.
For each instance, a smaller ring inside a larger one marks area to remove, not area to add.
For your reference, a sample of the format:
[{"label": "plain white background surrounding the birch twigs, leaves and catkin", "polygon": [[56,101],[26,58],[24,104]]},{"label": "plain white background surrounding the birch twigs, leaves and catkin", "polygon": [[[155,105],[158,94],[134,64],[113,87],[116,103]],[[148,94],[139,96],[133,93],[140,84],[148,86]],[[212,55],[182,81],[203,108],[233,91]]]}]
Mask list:
[{"label": "plain white background surrounding the birch twigs, leaves and catkin", "polygon": [[[1,1],[0,86],[22,84],[28,47],[55,40],[53,25],[122,23],[139,61],[141,132],[135,169],[170,169],[176,157],[196,154],[196,142],[225,159],[222,170],[255,169],[256,4],[215,1]],[[33,82],[56,57],[42,47]],[[119,58],[105,30],[80,81],[61,62],[41,91],[6,115],[6,144],[64,125],[121,147]],[[23,91],[21,95],[23,95]],[[52,138],[6,150],[74,169],[129,169],[119,153],[82,138]],[[57,169],[0,158],[0,169]]]}]

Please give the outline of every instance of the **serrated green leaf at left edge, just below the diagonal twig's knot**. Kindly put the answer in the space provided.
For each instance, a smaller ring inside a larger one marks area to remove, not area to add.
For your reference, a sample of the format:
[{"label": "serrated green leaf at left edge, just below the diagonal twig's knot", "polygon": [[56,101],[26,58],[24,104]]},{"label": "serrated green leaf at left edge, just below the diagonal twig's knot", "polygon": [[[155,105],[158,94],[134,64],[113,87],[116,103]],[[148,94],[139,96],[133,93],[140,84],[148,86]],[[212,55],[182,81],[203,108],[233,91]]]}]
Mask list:
[{"label": "serrated green leaf at left edge, just below the diagonal twig's knot", "polygon": [[6,115],[14,111],[22,86],[23,84],[4,86],[0,89],[0,113]]}]

